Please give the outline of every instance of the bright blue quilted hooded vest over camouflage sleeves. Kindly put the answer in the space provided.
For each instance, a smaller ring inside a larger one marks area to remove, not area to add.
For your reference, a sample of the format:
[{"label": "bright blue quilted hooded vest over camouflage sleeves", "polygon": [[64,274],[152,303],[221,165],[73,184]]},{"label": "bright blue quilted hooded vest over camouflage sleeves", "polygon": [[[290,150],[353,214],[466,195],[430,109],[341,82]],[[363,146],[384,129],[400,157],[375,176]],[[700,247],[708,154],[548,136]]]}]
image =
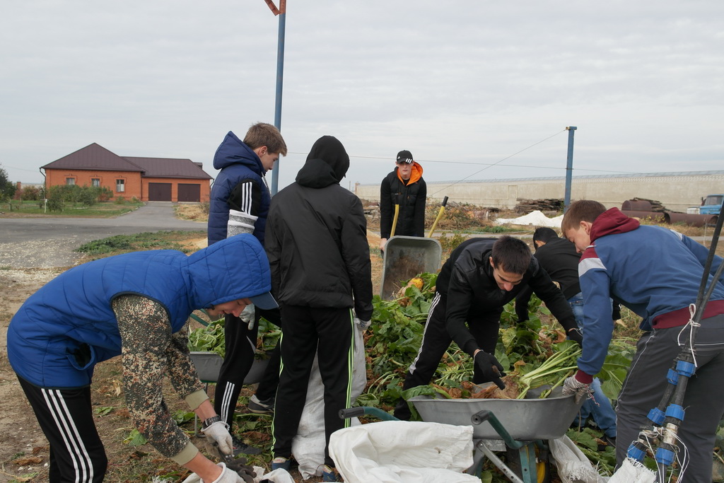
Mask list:
[{"label": "bright blue quilted hooded vest over camouflage sleeves", "polygon": [[[269,261],[253,235],[235,235],[190,256],[175,250],[111,256],[60,274],[22,304],[10,322],[7,352],[14,371],[41,387],[83,387],[93,366],[121,353],[111,301],[143,295],[161,303],[172,332],[191,312],[269,291]],[[90,361],[73,355],[90,346]]]}]

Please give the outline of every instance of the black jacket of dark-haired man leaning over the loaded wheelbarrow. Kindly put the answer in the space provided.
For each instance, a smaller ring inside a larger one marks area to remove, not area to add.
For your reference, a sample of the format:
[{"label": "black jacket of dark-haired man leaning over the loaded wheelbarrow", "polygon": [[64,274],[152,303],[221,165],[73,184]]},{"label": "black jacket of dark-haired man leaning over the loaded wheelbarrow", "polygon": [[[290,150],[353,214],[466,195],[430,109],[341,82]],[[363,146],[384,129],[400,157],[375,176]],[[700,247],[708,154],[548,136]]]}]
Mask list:
[{"label": "black jacket of dark-haired man leaning over the loaded wheelbarrow", "polygon": [[513,290],[500,290],[490,265],[495,238],[471,238],[450,253],[450,258],[440,270],[436,290],[447,296],[447,332],[458,346],[471,356],[478,348],[475,338],[466,327],[468,312],[490,311],[500,316],[502,307],[512,301],[523,287],[529,285],[546,303],[553,316],[568,332],[576,326],[571,306],[563,293],[550,280],[547,272],[531,257],[523,280]]}]

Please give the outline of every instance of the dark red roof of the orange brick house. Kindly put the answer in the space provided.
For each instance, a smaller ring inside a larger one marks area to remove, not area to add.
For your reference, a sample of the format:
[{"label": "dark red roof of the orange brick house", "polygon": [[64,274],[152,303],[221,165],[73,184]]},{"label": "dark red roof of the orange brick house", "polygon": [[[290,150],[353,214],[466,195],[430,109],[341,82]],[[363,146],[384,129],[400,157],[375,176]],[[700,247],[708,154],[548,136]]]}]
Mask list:
[{"label": "dark red roof of the orange brick house", "polygon": [[42,169],[84,169],[93,171],[133,171],[143,177],[173,177],[211,180],[201,163],[190,159],[137,158],[118,156],[96,143],[63,156]]}]

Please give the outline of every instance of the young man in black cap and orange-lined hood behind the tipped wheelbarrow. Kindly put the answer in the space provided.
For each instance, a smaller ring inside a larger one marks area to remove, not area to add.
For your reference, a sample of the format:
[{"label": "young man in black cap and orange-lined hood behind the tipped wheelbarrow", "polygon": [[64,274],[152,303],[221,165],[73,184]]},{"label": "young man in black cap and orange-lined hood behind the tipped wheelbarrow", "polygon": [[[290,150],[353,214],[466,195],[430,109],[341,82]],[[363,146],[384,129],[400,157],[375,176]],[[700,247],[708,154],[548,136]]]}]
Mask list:
[{"label": "young man in black cap and orange-lined hood behind the tipped wheelbarrow", "polygon": [[[397,153],[395,164],[395,170],[384,177],[379,187],[380,251],[384,251],[387,239],[393,235],[425,236],[427,185],[422,179],[422,167],[407,150]],[[395,232],[392,233],[395,205],[400,208]]]}]

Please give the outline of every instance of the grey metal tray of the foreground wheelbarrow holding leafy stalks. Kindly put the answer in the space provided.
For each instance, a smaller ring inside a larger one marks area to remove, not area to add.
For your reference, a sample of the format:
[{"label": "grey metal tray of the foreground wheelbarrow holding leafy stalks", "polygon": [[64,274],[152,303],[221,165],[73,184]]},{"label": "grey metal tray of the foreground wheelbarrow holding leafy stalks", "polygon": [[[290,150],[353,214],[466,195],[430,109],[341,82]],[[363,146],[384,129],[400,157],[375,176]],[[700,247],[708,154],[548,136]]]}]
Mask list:
[{"label": "grey metal tray of the foreground wheelbarrow holding leafy stalks", "polygon": [[[565,435],[583,404],[573,395],[547,399],[445,399],[431,396],[410,398],[423,421],[468,426],[479,411],[494,413],[513,440],[555,440]],[[473,437],[500,440],[489,424],[473,425]]]}]

